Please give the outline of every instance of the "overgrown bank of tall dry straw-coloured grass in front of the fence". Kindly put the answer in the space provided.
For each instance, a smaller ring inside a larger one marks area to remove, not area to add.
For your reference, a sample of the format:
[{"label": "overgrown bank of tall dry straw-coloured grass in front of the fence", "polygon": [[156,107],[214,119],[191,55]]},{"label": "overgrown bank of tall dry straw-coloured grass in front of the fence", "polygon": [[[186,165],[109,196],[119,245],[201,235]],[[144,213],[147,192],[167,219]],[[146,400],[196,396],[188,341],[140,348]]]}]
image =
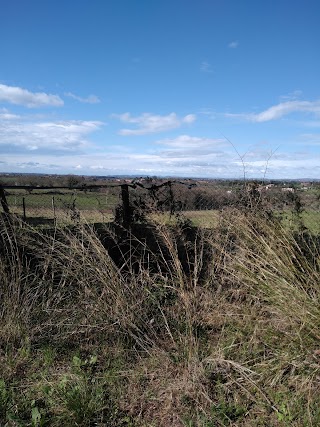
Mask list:
[{"label": "overgrown bank of tall dry straw-coloured grass in front of the fence", "polygon": [[0,425],[318,426],[320,244],[210,229],[0,222]]}]

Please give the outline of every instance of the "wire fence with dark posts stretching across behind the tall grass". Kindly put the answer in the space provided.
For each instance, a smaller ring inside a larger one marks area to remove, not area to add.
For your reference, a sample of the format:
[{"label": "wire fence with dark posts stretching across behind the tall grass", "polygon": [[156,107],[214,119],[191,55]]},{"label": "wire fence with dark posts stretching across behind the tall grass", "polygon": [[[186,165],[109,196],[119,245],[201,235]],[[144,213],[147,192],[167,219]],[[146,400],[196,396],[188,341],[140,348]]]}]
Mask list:
[{"label": "wire fence with dark posts stretching across behind the tall grass", "polygon": [[320,234],[320,185],[295,186],[205,180],[127,180],[70,187],[1,186],[2,209],[35,224],[118,222],[125,227],[150,219],[184,217],[213,227],[225,209],[268,212],[288,227]]}]

